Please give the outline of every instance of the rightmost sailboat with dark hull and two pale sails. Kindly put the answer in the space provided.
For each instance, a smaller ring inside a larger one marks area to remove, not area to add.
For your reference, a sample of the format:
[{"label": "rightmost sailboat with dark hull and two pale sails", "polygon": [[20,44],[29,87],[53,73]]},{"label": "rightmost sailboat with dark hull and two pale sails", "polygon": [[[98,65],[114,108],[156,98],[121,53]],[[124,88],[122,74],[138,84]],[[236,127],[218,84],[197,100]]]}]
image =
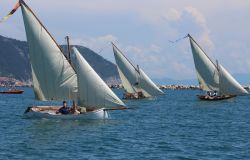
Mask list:
[{"label": "rightmost sailboat with dark hull and two pale sails", "polygon": [[211,60],[191,35],[188,34],[187,37],[190,40],[200,88],[208,93],[198,96],[201,100],[223,100],[248,94],[218,61],[215,63]]}]

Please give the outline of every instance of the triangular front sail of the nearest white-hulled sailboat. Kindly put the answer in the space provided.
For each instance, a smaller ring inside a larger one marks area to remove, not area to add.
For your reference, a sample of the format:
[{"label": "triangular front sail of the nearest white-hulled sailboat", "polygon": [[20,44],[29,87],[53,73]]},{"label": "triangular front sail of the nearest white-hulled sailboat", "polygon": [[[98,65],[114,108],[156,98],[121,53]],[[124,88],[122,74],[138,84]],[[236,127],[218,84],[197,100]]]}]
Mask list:
[{"label": "triangular front sail of the nearest white-hulled sailboat", "polygon": [[125,106],[75,47],[73,47],[73,52],[76,55],[78,99],[80,105],[97,108]]}]

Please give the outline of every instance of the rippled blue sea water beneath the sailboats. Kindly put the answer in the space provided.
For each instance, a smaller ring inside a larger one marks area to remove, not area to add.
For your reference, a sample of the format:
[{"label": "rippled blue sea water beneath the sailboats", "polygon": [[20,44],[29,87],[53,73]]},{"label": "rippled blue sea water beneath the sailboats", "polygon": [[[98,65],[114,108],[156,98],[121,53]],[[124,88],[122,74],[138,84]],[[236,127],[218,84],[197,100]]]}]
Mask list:
[{"label": "rippled blue sea water beneath the sailboats", "polygon": [[[115,90],[121,95],[121,90]],[[109,120],[25,119],[33,91],[0,95],[0,159],[250,159],[250,98],[199,101],[166,90]]]}]

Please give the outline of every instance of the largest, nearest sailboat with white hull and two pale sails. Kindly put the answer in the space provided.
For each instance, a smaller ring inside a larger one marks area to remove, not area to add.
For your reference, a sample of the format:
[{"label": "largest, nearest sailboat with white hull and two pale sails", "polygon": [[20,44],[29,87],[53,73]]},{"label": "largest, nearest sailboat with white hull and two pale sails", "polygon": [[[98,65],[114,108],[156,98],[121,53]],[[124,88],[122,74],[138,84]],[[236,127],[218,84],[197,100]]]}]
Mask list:
[{"label": "largest, nearest sailboat with white hull and two pale sails", "polygon": [[76,69],[63,54],[54,38],[28,5],[19,1],[29,45],[35,98],[40,101],[73,100],[80,102],[79,115],[57,114],[58,106],[32,106],[27,117],[105,119],[109,108],[125,104],[108,88],[76,48]]}]

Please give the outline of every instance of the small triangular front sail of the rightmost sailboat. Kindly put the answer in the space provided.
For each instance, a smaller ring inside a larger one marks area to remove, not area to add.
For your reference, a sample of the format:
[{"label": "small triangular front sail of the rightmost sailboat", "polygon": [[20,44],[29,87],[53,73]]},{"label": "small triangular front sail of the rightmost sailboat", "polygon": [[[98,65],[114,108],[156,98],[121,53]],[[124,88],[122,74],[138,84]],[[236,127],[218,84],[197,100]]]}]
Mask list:
[{"label": "small triangular front sail of the rightmost sailboat", "polygon": [[222,95],[245,95],[248,92],[237,82],[233,76],[220,64],[219,68],[219,91]]}]

